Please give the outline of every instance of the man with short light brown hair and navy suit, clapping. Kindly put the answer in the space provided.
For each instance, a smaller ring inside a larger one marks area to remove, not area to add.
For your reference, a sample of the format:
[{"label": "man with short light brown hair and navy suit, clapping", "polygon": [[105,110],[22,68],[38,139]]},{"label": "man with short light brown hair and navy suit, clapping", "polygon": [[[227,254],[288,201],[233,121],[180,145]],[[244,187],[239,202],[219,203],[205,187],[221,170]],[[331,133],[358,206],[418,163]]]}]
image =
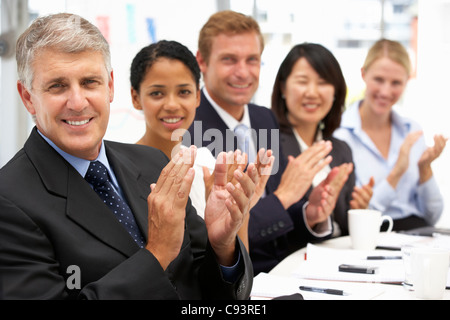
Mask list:
[{"label": "man with short light brown hair and navy suit, clapping", "polygon": [[273,174],[249,221],[255,274],[268,272],[308,241],[331,236],[330,214],[335,202],[329,186],[332,177],[316,187],[308,199],[304,197],[311,185],[310,176],[331,161],[327,157],[331,146],[320,143],[289,162],[282,157],[274,114],[251,103],[259,86],[264,49],[264,38],[252,17],[233,11],[213,14],[200,31],[198,48],[204,88],[194,124],[183,143],[208,147],[217,156],[238,148],[237,132],[245,126],[251,132],[245,150],[250,159],[260,148],[272,150]]}]

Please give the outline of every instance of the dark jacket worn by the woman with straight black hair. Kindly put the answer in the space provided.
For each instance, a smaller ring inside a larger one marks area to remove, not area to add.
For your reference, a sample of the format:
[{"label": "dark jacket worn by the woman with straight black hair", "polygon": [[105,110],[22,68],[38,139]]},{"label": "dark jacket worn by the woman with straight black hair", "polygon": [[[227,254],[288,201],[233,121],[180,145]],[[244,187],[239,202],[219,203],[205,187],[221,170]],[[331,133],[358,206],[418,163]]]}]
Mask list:
[{"label": "dark jacket worn by the woman with straight black hair", "polygon": [[[281,146],[283,147],[283,152],[286,157],[288,155],[296,157],[301,153],[300,145],[298,144],[292,130],[290,130],[290,132],[282,132],[280,137]],[[352,150],[347,143],[334,137],[331,137],[329,140],[333,145],[333,149],[330,153],[333,157],[333,160],[330,163],[331,168],[339,166],[343,163],[353,163]],[[355,186],[354,172],[355,170],[352,171],[347,182],[342,187],[342,191],[339,194],[339,198],[337,199],[336,206],[333,211],[333,218],[338,223],[342,235],[348,234],[347,211],[350,209],[350,200],[352,199],[352,192]],[[308,191],[308,195],[311,193],[311,190],[312,188]]]}]

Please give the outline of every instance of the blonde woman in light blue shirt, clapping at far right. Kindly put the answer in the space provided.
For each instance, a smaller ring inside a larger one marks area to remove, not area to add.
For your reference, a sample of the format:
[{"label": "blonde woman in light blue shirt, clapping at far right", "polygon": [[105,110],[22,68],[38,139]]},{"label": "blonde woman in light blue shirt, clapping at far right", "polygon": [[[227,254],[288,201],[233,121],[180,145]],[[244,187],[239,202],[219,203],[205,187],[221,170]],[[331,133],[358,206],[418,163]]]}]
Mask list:
[{"label": "blonde woman in light blue shirt, clapping at far right", "polygon": [[348,108],[335,132],[352,149],[356,183],[375,178],[370,206],[390,215],[394,230],[434,225],[443,199],[431,163],[447,139],[436,135],[434,146],[427,147],[420,125],[393,110],[411,74],[408,53],[400,43],[381,39],[369,50],[361,74],[364,99]]}]

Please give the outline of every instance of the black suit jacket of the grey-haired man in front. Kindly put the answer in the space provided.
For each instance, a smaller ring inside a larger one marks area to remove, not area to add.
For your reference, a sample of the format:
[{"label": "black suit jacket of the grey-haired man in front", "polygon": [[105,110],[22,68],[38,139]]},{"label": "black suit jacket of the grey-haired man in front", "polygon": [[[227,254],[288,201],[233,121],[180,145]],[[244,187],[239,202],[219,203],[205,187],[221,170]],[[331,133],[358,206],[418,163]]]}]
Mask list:
[{"label": "black suit jacket of the grey-haired man in front", "polygon": [[[147,238],[147,196],[167,158],[145,146],[105,141],[106,154]],[[190,202],[179,256],[164,271],[140,249],[84,178],[33,130],[0,170],[0,274],[6,299],[202,299],[249,296],[253,273],[222,279],[203,220]],[[80,290],[70,290],[77,266]]]}]

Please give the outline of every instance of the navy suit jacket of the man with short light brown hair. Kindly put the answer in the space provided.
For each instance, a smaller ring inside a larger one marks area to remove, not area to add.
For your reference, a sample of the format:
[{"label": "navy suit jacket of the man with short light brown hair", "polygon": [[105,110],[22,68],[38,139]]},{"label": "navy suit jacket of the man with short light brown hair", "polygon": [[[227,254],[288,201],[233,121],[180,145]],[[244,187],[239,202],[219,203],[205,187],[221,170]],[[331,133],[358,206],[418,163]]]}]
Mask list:
[{"label": "navy suit jacket of the man with short light brown hair", "polygon": [[[308,242],[322,240],[314,237],[306,228],[302,208],[306,198],[292,205],[286,211],[273,194],[286,168],[282,156],[279,126],[274,114],[268,108],[249,104],[251,127],[256,133],[257,148],[270,148],[276,161],[274,171],[266,186],[266,196],[250,213],[249,246],[255,274],[270,271],[287,255],[304,247]],[[221,151],[236,149],[233,130],[228,128],[202,92],[195,121],[183,138],[185,145],[208,147],[215,157]],[[220,136],[216,136],[221,132]]]}]

